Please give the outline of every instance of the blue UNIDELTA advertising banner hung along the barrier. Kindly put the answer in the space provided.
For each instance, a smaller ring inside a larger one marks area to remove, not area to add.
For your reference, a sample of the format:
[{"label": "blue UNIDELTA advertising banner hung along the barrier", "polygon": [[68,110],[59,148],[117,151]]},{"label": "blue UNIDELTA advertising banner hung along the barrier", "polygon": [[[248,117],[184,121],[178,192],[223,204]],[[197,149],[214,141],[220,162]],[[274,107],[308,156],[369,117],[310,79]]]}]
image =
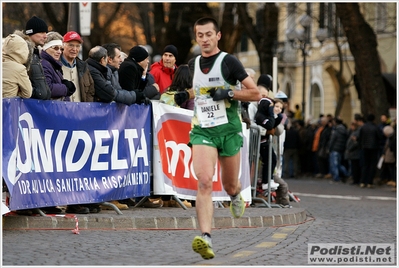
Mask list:
[{"label": "blue UNIDELTA advertising banner hung along the barrier", "polygon": [[149,196],[151,106],[3,99],[11,210]]}]

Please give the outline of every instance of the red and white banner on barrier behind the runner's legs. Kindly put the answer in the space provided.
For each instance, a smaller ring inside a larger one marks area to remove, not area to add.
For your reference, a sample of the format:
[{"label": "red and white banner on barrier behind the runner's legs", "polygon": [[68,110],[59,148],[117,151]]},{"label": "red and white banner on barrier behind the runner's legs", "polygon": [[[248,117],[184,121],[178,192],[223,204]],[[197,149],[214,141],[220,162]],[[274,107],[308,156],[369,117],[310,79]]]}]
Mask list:
[{"label": "red and white banner on barrier behind the runner's legs", "polygon": [[[194,175],[189,132],[193,111],[152,101],[153,108],[153,175],[155,195],[176,195],[181,199],[195,200],[197,179]],[[242,196],[251,201],[251,184],[248,163],[249,131],[243,124],[244,146],[241,148],[240,180]],[[206,157],[206,156],[204,156]],[[219,164],[213,178],[213,201],[229,201],[220,180]]]}]

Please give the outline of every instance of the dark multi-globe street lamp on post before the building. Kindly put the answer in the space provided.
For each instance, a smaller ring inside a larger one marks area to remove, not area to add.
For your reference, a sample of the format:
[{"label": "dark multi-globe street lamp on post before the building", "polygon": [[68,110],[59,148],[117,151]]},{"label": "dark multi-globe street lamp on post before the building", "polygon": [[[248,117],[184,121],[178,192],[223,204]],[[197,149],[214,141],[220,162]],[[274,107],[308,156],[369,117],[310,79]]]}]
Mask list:
[{"label": "dark multi-globe street lamp on post before the building", "polygon": [[[291,29],[287,32],[286,37],[291,43],[292,47],[295,49],[300,49],[302,51],[302,118],[305,120],[305,93],[306,93],[306,56],[308,55],[311,47],[310,39],[310,25],[312,24],[312,18],[305,14],[299,19],[299,24],[301,24],[303,29],[296,30]],[[319,29],[317,31],[316,37],[319,39],[320,43],[323,43],[327,37],[325,29]]]}]

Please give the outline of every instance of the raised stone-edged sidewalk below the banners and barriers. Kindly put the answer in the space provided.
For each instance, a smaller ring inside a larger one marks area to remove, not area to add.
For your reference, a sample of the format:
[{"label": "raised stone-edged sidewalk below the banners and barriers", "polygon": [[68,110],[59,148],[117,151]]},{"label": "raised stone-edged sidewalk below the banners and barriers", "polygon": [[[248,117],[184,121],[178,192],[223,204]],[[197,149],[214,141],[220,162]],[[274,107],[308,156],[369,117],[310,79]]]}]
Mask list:
[{"label": "raised stone-edged sidewalk below the banners and barriers", "polygon": [[[3,216],[3,230],[15,229],[197,229],[194,208],[161,207],[122,210],[102,210],[95,214],[47,214],[21,216],[14,213]],[[299,224],[306,220],[304,208],[248,207],[243,217],[235,219],[229,208],[215,208],[213,228],[272,227]]]}]

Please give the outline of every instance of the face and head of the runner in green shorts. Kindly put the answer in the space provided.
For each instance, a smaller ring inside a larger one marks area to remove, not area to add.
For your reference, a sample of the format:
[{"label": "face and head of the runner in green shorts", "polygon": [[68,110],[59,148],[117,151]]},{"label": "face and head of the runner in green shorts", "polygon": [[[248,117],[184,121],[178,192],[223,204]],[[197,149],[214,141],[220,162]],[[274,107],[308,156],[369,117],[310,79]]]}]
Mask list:
[{"label": "face and head of the runner in green shorts", "polygon": [[220,37],[221,33],[216,33],[213,23],[195,26],[195,39],[201,48],[202,54],[217,53]]}]

